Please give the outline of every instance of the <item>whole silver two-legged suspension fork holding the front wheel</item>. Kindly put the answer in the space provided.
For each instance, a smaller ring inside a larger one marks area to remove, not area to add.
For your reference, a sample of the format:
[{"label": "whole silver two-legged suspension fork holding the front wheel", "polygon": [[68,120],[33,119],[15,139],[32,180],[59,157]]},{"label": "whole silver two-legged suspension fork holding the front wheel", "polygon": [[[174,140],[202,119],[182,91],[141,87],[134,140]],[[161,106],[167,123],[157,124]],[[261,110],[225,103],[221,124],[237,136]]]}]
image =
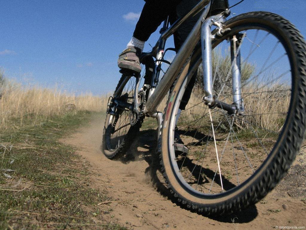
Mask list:
[{"label": "whole silver two-legged suspension fork holding the front wheel", "polygon": [[[212,41],[221,37],[230,30],[230,28],[223,29],[222,23],[225,22],[226,17],[230,14],[229,10],[222,14],[208,17],[203,21],[201,26],[201,45],[202,45],[202,65],[203,65],[203,83],[204,83],[204,102],[210,107],[218,107],[226,110],[229,114],[243,114],[243,99],[241,97],[241,56],[239,47],[239,40],[236,36],[231,40],[231,62],[232,62],[232,82],[233,82],[233,104],[229,105],[218,101],[213,95],[213,73],[212,73]],[[211,27],[217,26],[217,33],[211,34]],[[238,43],[237,43],[238,42]]]}]

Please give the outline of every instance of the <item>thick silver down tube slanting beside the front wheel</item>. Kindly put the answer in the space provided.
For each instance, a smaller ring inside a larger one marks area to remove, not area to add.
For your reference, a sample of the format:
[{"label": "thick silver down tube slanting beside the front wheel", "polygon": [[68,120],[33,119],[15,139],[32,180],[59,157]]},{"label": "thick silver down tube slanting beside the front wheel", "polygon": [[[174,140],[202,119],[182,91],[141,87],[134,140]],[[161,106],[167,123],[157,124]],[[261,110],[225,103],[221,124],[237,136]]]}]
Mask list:
[{"label": "thick silver down tube slanting beside the front wheel", "polygon": [[180,71],[184,64],[186,63],[188,57],[192,53],[194,47],[198,43],[200,39],[200,29],[202,24],[202,18],[206,18],[208,11],[210,8],[210,4],[207,5],[205,10],[203,11],[201,17],[197,21],[196,25],[193,27],[192,31],[188,35],[181,49],[175,56],[172,65],[169,67],[164,77],[160,80],[159,84],[156,86],[154,93],[148,98],[146,103],[144,114],[152,115],[156,112],[156,108],[162,101],[172,86],[173,82],[180,74]]}]

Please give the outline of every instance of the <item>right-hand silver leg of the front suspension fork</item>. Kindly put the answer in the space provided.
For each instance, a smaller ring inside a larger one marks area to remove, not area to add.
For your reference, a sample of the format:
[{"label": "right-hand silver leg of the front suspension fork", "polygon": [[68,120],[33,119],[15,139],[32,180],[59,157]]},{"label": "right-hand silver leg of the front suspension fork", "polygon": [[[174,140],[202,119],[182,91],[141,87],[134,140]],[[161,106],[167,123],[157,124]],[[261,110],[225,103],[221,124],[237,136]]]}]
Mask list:
[{"label": "right-hand silver leg of the front suspension fork", "polygon": [[231,47],[231,63],[232,63],[232,88],[233,88],[233,104],[236,105],[237,112],[243,113],[243,99],[241,91],[241,55],[239,47],[239,40],[234,35],[230,40]]}]

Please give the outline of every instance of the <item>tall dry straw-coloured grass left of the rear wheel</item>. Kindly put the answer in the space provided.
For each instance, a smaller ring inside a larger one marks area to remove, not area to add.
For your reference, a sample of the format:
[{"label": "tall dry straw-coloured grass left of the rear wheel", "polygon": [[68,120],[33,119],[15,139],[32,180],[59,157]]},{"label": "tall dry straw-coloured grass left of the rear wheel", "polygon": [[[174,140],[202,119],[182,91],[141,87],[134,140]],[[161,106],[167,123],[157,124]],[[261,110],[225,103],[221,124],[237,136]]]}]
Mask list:
[{"label": "tall dry straw-coloured grass left of the rear wheel", "polygon": [[84,94],[75,96],[55,88],[44,89],[39,86],[24,87],[6,82],[1,87],[0,129],[12,125],[22,126],[25,120],[35,124],[43,119],[67,113],[67,111],[106,109],[108,97]]}]

